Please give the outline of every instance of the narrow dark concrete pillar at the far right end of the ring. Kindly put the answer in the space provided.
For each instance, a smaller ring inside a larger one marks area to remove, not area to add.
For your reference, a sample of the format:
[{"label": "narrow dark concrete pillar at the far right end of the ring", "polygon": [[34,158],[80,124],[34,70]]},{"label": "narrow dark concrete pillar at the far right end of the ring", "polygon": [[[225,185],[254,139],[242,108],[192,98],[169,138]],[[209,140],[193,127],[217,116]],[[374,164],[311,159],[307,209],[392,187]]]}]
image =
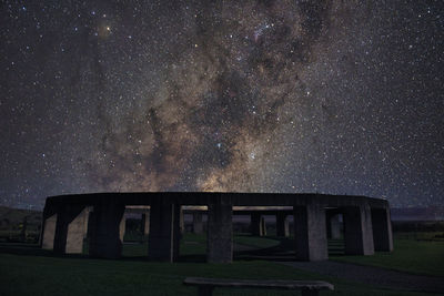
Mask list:
[{"label": "narrow dark concrete pillar at the far right end of the ring", "polygon": [[372,226],[375,251],[393,251],[392,222],[389,208],[372,208]]}]

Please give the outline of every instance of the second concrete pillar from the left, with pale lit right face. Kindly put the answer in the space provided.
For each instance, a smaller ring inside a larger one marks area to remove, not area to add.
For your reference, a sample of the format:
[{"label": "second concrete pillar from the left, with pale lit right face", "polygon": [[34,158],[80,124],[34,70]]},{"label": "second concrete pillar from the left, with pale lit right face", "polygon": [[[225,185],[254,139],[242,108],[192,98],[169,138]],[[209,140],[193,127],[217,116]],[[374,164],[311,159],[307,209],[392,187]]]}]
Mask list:
[{"label": "second concrete pillar from the left, with pale lit right face", "polygon": [[53,249],[57,254],[81,254],[83,251],[87,208],[83,205],[61,205],[58,210]]}]

